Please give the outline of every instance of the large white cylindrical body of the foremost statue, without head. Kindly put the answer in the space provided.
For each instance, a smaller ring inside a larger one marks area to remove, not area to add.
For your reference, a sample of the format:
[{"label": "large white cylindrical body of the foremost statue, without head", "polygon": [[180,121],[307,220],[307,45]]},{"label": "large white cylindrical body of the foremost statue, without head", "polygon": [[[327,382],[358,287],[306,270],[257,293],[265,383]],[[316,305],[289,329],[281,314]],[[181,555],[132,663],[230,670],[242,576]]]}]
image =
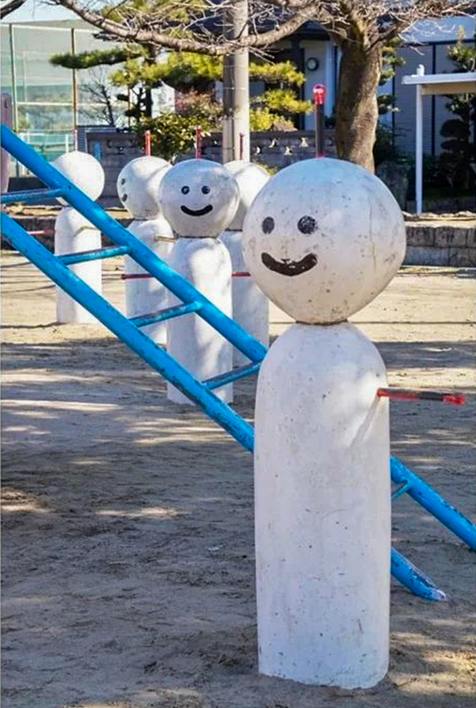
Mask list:
[{"label": "large white cylindrical body of the foremost statue, without head", "polygon": [[259,670],[370,687],[387,672],[390,434],[378,350],[351,324],[295,324],[256,398]]}]

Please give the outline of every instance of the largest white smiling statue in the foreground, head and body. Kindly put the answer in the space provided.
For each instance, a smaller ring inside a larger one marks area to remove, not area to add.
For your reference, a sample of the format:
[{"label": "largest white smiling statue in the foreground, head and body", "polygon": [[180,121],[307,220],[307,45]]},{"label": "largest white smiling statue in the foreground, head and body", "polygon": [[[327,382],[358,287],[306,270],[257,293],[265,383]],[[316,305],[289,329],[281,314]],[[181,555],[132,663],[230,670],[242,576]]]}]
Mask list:
[{"label": "largest white smiling statue in the foreground, head and body", "polygon": [[370,687],[387,672],[390,433],[385,365],[347,321],[402,263],[390,191],[349,162],[271,178],[244,222],[244,259],[297,320],[261,366],[255,415],[259,670]]}]

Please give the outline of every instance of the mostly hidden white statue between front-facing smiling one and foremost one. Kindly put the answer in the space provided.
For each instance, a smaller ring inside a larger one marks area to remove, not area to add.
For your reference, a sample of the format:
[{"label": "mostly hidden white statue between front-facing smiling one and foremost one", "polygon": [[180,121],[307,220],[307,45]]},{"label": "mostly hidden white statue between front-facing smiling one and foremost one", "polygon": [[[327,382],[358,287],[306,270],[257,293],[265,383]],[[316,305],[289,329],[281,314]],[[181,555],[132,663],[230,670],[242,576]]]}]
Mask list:
[{"label": "mostly hidden white statue between front-facing smiling one and foremost one", "polygon": [[[239,205],[237,213],[229,223],[227,230],[220,236],[220,241],[227,246],[232,258],[234,273],[246,272],[242,249],[242,229],[244,217],[259,190],[266,184],[269,175],[262,167],[251,162],[234,160],[225,164],[232,173],[239,187]],[[243,329],[258,339],[265,347],[269,346],[269,302],[251,277],[232,279],[233,319]],[[238,349],[233,350],[235,366],[249,364],[249,358]]]}]

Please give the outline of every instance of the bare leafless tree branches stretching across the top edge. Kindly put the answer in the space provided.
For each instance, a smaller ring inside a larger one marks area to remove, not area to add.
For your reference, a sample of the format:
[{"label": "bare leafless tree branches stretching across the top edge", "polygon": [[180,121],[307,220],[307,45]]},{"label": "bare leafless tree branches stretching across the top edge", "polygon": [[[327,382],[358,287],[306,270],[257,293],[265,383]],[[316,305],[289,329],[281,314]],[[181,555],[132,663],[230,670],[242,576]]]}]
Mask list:
[{"label": "bare leafless tree branches stretching across the top edge", "polygon": [[[24,0],[11,0],[8,4]],[[91,0],[53,0],[101,33],[122,42],[171,50],[225,55],[237,49],[266,51],[307,22],[316,22],[341,43],[372,50],[426,18],[473,10],[474,0],[249,0],[248,33],[227,36],[234,0],[118,0],[101,10]]]}]

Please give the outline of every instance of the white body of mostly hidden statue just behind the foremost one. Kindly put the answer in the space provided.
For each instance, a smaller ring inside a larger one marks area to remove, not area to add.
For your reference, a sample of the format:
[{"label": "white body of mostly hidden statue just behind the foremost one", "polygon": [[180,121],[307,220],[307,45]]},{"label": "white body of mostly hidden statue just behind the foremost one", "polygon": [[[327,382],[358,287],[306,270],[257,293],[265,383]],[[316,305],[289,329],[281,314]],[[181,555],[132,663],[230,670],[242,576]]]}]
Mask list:
[{"label": "white body of mostly hidden statue just behind the foremost one", "polygon": [[[242,251],[242,231],[227,230],[220,236],[220,241],[227,247],[232,259],[234,273],[245,273]],[[269,346],[269,301],[251,276],[232,278],[233,319],[252,337],[265,347]],[[249,364],[249,358],[239,350],[233,350],[235,366]]]}]

